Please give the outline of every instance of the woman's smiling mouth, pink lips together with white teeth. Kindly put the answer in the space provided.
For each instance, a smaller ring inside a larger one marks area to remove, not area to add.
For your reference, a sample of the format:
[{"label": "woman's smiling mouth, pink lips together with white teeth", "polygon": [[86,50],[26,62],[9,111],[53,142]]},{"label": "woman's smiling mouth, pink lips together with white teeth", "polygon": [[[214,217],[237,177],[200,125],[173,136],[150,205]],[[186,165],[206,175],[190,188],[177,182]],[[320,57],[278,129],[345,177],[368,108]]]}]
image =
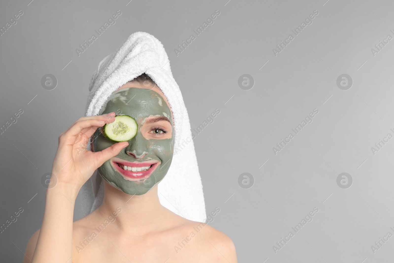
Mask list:
[{"label": "woman's smiling mouth, pink lips together with white teeth", "polygon": [[111,161],[112,166],[129,181],[140,181],[149,178],[158,166],[157,162]]}]

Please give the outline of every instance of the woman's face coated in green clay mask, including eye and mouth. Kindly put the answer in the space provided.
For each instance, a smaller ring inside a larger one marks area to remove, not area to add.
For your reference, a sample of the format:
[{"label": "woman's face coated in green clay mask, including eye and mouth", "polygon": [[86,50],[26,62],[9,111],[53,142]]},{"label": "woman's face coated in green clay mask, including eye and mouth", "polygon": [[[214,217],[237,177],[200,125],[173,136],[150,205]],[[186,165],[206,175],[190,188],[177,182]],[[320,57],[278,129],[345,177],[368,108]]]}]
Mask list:
[{"label": "woman's face coated in green clay mask, including eye and mouth", "polygon": [[[110,112],[134,118],[138,131],[128,146],[97,170],[110,185],[126,194],[145,194],[164,178],[171,164],[175,142],[171,110],[156,91],[124,88],[110,95],[99,115]],[[100,130],[94,134],[94,151],[115,143]]]}]

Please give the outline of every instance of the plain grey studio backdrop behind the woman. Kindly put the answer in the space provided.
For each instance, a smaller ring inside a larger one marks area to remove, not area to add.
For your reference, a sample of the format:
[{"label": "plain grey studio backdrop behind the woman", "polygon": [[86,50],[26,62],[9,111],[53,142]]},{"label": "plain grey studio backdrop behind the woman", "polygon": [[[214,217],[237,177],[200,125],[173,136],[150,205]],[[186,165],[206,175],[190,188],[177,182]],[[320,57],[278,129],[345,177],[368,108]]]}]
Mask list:
[{"label": "plain grey studio backdrop behind the woman", "polygon": [[[163,43],[192,129],[220,110],[194,144],[206,212],[220,208],[210,224],[234,241],[239,262],[392,261],[394,237],[375,254],[371,246],[394,234],[394,138],[375,155],[371,147],[394,135],[394,40],[375,56],[371,48],[394,37],[393,2],[227,1],[2,1],[0,26],[23,15],[0,36],[0,126],[24,111],[0,135],[0,224],[24,209],[0,234],[3,262],[21,262],[41,226],[41,176],[51,171],[58,135],[84,114],[93,71],[136,31]],[[117,10],[116,23],[78,57],[75,49]],[[214,24],[177,56],[215,10]],[[312,24],[275,56],[314,10]],[[54,90],[41,86],[46,74],[58,79]],[[252,89],[238,86],[242,74],[253,76]],[[341,74],[353,79],[349,90],[336,86]],[[315,108],[312,123],[275,155]],[[249,189],[238,185],[244,172],[255,179]],[[342,172],[353,177],[350,188],[336,184]],[[314,207],[312,222],[275,254]]]}]

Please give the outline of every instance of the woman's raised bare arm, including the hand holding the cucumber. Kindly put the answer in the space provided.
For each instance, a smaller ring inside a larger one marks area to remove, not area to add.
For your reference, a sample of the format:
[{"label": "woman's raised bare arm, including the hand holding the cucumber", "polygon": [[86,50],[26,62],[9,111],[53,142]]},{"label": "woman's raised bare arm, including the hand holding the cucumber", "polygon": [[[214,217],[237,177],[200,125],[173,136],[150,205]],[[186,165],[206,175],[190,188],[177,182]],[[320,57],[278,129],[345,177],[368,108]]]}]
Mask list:
[{"label": "woman's raised bare arm, including the hand holding the cucumber", "polygon": [[128,145],[128,142],[118,142],[99,152],[86,150],[89,138],[98,127],[114,121],[114,115],[112,112],[82,117],[60,134],[51,175],[51,182],[56,185],[46,190],[43,223],[28,242],[24,263],[72,262],[72,220],[76,196],[97,168]]}]

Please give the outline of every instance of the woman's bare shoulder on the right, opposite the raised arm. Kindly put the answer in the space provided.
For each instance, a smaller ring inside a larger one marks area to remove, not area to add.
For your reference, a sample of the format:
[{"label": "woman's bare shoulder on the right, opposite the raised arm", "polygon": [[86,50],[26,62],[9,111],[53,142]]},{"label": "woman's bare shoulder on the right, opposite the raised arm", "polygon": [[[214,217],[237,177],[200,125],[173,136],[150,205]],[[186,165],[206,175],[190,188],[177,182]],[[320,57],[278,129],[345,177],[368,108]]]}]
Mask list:
[{"label": "woman's bare shoulder on the right, opposite the raised arm", "polygon": [[196,221],[188,222],[187,228],[190,235],[186,239],[196,240],[197,246],[195,248],[199,253],[204,254],[205,262],[237,262],[234,242],[225,233],[208,224]]}]

